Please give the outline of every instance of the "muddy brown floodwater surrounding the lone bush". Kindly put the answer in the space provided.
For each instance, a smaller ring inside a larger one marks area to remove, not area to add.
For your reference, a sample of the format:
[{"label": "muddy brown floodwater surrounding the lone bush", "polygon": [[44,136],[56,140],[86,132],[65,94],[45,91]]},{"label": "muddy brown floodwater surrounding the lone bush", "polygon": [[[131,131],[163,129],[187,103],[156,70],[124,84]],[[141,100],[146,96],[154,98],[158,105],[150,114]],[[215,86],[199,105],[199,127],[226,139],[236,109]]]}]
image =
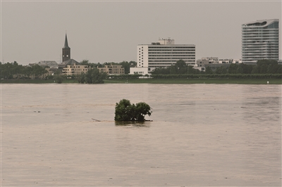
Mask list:
[{"label": "muddy brown floodwater surrounding the lone bush", "polygon": [[281,85],[2,84],[1,186],[281,186]]}]

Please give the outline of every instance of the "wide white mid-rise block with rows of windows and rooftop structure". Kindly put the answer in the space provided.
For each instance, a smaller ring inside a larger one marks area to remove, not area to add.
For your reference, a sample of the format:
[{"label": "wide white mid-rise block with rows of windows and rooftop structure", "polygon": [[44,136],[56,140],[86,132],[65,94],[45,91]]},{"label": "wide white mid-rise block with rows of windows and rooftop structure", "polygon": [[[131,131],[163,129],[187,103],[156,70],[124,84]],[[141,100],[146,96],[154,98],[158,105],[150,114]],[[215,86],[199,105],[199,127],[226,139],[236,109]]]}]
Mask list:
[{"label": "wide white mid-rise block with rows of windows and rooftop structure", "polygon": [[148,67],[151,72],[157,67],[168,67],[178,60],[195,65],[195,45],[174,44],[174,39],[159,39],[152,44],[137,45],[137,67]]}]

